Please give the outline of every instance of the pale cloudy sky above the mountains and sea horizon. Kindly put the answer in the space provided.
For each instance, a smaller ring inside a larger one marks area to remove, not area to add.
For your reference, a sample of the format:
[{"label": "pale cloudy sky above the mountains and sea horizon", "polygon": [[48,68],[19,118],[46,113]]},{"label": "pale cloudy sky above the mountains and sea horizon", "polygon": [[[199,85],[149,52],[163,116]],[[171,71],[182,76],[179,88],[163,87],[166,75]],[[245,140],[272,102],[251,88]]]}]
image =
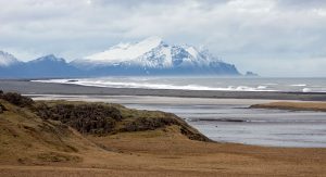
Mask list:
[{"label": "pale cloudy sky above the mountains and sea horizon", "polygon": [[0,50],[71,61],[160,36],[240,72],[326,76],[325,0],[0,0]]}]

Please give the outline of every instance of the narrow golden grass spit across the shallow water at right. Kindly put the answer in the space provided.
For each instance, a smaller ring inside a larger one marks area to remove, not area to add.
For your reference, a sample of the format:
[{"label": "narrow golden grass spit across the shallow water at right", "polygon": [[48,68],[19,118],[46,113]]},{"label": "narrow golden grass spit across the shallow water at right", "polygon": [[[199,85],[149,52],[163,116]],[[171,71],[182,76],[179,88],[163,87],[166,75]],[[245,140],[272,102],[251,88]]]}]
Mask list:
[{"label": "narrow golden grass spit across the shallow water at right", "polygon": [[297,111],[326,111],[326,102],[272,102],[266,104],[254,104],[255,109],[280,109]]}]

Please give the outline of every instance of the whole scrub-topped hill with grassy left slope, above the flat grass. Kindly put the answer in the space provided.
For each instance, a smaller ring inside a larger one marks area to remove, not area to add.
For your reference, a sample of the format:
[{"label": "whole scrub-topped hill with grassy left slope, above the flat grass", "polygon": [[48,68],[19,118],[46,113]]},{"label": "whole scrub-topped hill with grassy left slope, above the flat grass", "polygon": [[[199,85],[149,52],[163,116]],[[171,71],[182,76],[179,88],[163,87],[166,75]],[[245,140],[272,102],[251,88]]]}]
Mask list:
[{"label": "whole scrub-topped hill with grassy left slope, above the flat grass", "polygon": [[17,93],[1,93],[0,98],[0,163],[78,163],[84,150],[111,149],[95,139],[123,132],[153,137],[164,131],[210,141],[171,113],[106,103],[35,102]]}]

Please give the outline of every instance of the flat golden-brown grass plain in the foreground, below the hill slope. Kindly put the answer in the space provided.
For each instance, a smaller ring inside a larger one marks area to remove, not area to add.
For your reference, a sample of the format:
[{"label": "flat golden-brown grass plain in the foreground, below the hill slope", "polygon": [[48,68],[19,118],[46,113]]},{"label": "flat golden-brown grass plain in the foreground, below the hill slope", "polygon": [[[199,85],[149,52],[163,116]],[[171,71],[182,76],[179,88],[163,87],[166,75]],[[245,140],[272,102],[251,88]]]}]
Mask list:
[{"label": "flat golden-brown grass plain in the foreground, below the hill slope", "polygon": [[83,162],[1,165],[1,176],[325,176],[325,149],[200,142],[168,130],[87,137]]}]

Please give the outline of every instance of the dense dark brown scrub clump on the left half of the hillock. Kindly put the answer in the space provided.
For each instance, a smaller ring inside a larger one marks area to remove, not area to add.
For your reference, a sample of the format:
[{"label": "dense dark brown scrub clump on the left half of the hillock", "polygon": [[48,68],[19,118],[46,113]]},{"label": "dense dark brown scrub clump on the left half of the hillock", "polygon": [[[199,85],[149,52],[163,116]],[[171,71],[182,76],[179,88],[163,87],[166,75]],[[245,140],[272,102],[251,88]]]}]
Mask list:
[{"label": "dense dark brown scrub clump on the left half of the hillock", "polygon": [[76,128],[83,134],[103,135],[113,131],[120,111],[101,104],[55,104],[46,103],[36,106],[37,114],[43,119],[54,119]]}]

